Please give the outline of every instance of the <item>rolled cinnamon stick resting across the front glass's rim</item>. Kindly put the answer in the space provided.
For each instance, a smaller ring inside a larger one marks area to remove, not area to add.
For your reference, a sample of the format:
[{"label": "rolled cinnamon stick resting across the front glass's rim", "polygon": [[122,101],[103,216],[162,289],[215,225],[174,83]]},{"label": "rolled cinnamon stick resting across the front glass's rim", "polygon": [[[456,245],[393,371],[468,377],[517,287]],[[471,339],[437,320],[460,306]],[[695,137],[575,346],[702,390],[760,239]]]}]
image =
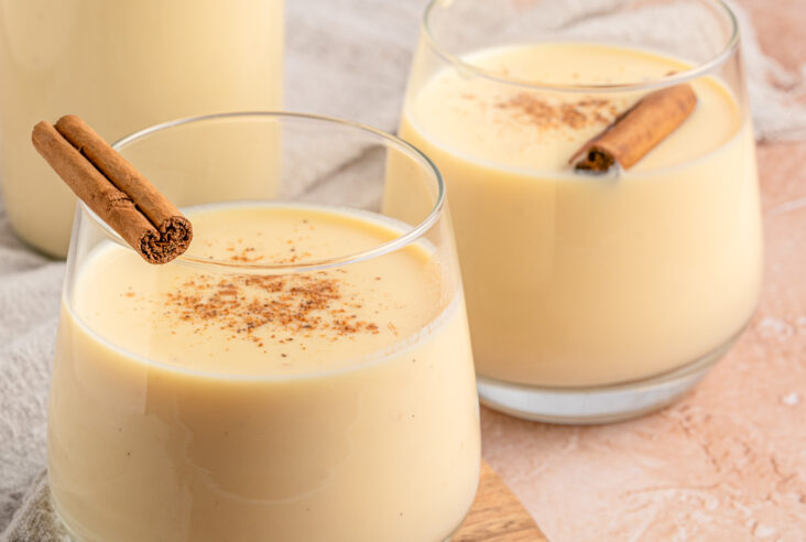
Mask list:
[{"label": "rolled cinnamon stick resting across the front glass's rim", "polygon": [[39,122],[31,136],[40,154],[87,206],[149,263],[187,250],[193,227],[179,209],[75,115]]}]

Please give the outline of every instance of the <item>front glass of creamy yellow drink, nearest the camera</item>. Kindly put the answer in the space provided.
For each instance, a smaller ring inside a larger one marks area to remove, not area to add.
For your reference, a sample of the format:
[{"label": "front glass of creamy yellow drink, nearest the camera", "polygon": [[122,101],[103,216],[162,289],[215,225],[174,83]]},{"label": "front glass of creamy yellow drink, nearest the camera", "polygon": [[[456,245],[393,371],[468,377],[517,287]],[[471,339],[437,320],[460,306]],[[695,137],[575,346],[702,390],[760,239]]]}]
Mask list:
[{"label": "front glass of creamy yellow drink, nearest the camera", "polygon": [[[293,113],[179,120],[115,147],[194,240],[150,265],[78,206],[48,419],[73,536],[448,536],[476,492],[479,418],[428,159]],[[395,175],[418,191],[406,217],[380,212]]]}]

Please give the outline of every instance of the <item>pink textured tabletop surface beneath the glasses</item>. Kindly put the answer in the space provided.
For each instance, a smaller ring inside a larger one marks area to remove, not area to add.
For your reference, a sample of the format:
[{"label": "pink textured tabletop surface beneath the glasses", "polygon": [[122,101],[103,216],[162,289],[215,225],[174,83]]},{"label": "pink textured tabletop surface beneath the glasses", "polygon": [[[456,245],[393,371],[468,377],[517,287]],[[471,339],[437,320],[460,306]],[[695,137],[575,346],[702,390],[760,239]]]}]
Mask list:
[{"label": "pink textured tabletop surface beneath the glasses", "polygon": [[[806,1],[741,2],[806,61]],[[759,148],[765,284],[749,329],[677,404],[586,427],[482,409],[483,455],[553,542],[806,541],[806,142]]]}]

